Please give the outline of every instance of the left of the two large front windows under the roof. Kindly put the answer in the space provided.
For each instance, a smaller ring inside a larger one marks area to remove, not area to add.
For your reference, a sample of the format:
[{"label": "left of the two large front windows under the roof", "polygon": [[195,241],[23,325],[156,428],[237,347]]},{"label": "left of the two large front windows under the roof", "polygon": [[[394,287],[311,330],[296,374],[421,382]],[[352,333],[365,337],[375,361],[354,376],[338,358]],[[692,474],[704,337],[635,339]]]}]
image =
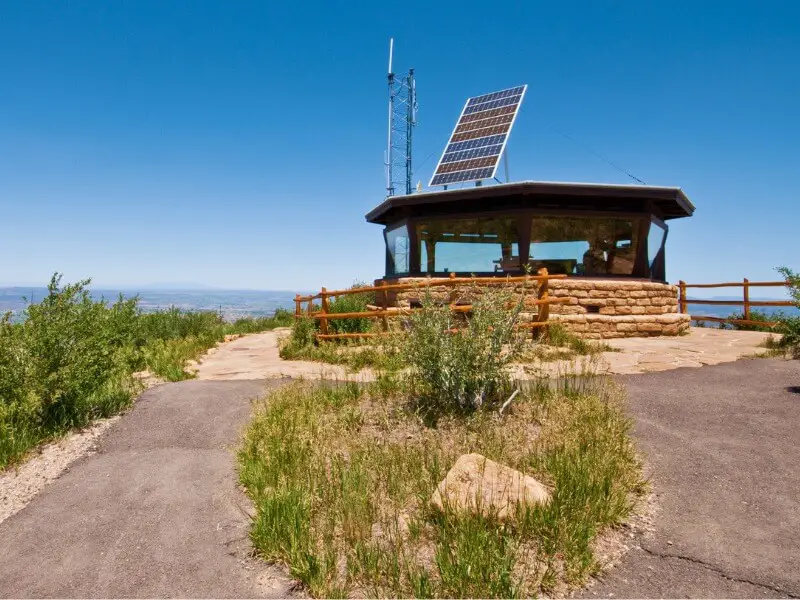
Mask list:
[{"label": "left of the two large front windows under the roof", "polygon": [[417,225],[423,273],[519,272],[516,219],[447,219]]}]

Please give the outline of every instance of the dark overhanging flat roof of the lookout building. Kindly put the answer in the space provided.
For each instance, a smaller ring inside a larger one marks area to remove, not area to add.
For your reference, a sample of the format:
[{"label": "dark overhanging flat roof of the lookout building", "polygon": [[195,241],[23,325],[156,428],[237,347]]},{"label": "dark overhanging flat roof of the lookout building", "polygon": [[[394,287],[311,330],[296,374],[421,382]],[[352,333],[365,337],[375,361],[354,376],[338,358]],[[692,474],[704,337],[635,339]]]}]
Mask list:
[{"label": "dark overhanging flat roof of the lookout building", "polygon": [[[565,204],[576,198],[596,199],[602,206],[602,199],[651,201],[664,219],[690,217],[694,204],[679,187],[654,185],[626,185],[611,183],[570,183],[563,181],[519,181],[490,186],[476,186],[446,191],[419,192],[404,196],[391,196],[366,214],[370,223],[386,223],[393,213],[403,207],[421,207],[451,202],[480,202],[483,199],[499,199],[523,196],[534,199],[543,197],[548,202],[562,200]],[[449,205],[452,207],[452,205]],[[491,209],[491,206],[487,206]],[[452,209],[451,209],[452,210]]]}]

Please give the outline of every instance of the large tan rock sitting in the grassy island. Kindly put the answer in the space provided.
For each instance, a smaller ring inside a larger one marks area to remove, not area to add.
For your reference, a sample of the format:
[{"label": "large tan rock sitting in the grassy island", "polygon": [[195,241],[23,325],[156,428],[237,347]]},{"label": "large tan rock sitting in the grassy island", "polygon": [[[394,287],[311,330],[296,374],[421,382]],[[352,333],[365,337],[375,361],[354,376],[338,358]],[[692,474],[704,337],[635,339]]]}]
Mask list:
[{"label": "large tan rock sitting in the grassy island", "polygon": [[480,454],[459,457],[439,483],[431,502],[457,512],[513,516],[518,504],[547,504],[550,491],[533,477],[489,460]]}]

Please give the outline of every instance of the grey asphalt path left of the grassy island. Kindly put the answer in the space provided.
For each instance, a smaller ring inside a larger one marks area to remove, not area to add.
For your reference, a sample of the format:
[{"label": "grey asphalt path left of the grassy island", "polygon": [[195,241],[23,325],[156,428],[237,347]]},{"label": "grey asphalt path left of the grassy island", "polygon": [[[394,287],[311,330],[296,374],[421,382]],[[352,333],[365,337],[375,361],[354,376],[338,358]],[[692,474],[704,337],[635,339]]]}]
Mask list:
[{"label": "grey asphalt path left of the grassy island", "polygon": [[264,381],[185,381],[130,414],[0,524],[3,597],[285,597],[249,557],[233,447]]}]

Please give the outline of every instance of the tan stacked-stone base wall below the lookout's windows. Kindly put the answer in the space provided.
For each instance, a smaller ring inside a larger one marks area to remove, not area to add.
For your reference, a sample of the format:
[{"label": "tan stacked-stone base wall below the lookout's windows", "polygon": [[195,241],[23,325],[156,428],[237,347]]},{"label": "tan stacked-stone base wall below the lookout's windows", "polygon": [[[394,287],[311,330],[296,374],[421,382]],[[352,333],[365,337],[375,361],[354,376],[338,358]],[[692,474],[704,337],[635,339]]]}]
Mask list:
[{"label": "tan stacked-stone base wall below the lookout's windows", "polygon": [[[403,277],[386,283],[420,283],[423,277]],[[377,282],[376,282],[377,283]],[[515,295],[525,293],[526,320],[536,318],[538,285],[512,284]],[[497,286],[492,286],[497,287]],[[470,302],[488,286],[434,285],[430,288],[437,302],[459,299]],[[387,292],[389,306],[418,305],[423,290]],[[689,315],[678,312],[678,288],[667,283],[630,279],[552,279],[549,294],[553,298],[569,298],[565,304],[550,305],[550,320],[562,323],[570,331],[590,339],[680,335],[689,329]]]}]

